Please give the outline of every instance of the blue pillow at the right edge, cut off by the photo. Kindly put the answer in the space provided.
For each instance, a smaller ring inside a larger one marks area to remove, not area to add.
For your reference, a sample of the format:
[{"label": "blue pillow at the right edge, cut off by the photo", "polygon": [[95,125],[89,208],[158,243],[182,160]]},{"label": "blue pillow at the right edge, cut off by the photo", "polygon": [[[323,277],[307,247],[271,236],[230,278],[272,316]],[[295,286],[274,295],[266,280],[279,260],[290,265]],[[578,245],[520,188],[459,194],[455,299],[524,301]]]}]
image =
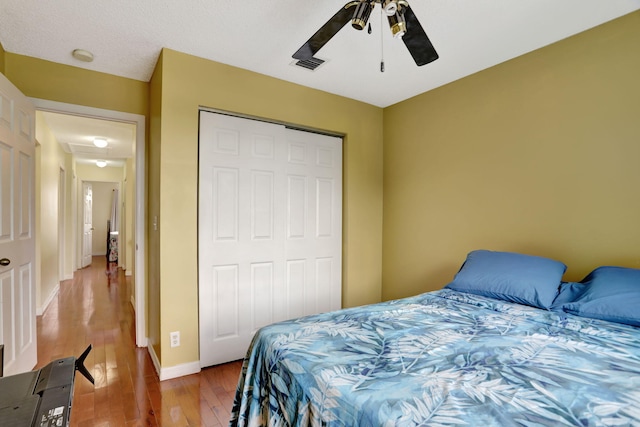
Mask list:
[{"label": "blue pillow at the right edge, cut off by the photo", "polygon": [[582,280],[585,291],[562,306],[567,313],[640,326],[640,270],[598,267]]}]

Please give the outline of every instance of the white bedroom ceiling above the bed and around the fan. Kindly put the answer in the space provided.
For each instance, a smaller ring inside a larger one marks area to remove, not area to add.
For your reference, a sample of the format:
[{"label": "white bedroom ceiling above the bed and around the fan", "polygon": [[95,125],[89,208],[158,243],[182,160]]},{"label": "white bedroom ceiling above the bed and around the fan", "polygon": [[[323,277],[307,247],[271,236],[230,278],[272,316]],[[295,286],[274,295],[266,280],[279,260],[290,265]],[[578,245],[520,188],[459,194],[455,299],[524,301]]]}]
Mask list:
[{"label": "white bedroom ceiling above the bed and around the fan", "polygon": [[[640,0],[409,1],[440,55],[422,67],[386,23],[381,28],[379,6],[372,34],[347,24],[316,55],[327,63],[316,71],[291,66],[291,55],[347,0],[0,0],[0,43],[141,81],[167,47],[386,107],[640,10]],[[76,48],[94,61],[74,59]],[[54,132],[62,141],[73,130],[60,124]]]}]

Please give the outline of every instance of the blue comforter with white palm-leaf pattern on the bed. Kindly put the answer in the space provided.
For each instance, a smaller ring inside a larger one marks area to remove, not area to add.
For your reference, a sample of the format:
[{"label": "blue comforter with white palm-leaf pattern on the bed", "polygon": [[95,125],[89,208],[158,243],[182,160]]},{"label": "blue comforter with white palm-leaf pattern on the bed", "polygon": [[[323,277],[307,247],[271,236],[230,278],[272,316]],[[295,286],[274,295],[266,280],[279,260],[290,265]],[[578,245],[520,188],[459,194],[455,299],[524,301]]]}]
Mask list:
[{"label": "blue comforter with white palm-leaf pattern on the bed", "polygon": [[447,289],[277,323],[230,425],[640,425],[640,328]]}]

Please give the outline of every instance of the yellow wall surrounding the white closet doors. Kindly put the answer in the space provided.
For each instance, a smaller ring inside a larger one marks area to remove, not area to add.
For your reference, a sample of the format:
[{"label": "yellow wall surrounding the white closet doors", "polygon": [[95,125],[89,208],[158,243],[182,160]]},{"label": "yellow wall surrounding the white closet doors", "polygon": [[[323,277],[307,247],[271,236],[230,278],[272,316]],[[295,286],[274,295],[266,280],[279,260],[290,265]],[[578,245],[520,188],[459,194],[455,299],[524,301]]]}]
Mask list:
[{"label": "yellow wall surrounding the white closet doors", "polygon": [[[198,108],[343,133],[343,305],[377,302],[382,259],[382,109],[165,49],[160,149],[160,337],[163,366],[199,359]],[[154,91],[152,90],[152,95]],[[152,105],[154,100],[152,99]],[[153,118],[152,118],[153,120]],[[153,161],[151,161],[153,163]],[[153,203],[150,202],[150,207]],[[156,208],[157,209],[157,208]],[[181,346],[169,348],[170,331]]]}]

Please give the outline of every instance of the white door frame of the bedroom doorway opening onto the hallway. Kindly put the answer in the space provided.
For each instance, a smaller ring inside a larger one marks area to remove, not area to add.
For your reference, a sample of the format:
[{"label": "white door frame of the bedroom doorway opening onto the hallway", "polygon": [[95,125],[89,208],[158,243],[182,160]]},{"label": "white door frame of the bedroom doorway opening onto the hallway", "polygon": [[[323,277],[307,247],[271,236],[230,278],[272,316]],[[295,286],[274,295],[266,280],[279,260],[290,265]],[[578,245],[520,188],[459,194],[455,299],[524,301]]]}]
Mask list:
[{"label": "white door frame of the bedroom doorway opening onto the hallway", "polygon": [[134,254],[135,254],[135,316],[136,316],[136,345],[147,346],[147,312],[146,312],[146,265],[147,252],[145,237],[147,231],[146,218],[146,162],[145,162],[145,116],[140,114],[125,113],[115,110],[87,107],[84,105],[68,104],[64,102],[50,101],[40,98],[29,98],[36,110],[48,111],[59,114],[69,114],[94,119],[111,120],[131,123],[136,125],[136,197],[134,203]]}]

